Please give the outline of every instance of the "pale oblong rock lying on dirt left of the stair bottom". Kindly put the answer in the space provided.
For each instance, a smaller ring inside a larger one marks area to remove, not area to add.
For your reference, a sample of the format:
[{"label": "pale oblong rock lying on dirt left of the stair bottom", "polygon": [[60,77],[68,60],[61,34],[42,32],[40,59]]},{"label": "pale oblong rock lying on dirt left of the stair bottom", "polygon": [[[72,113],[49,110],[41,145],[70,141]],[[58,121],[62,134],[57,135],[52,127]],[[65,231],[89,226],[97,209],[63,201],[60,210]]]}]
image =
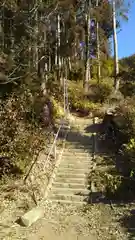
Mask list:
[{"label": "pale oblong rock lying on dirt left of the stair bottom", "polygon": [[30,210],[29,212],[25,213],[22,217],[20,217],[19,223],[20,225],[29,227],[43,216],[44,216],[43,208],[36,207]]}]

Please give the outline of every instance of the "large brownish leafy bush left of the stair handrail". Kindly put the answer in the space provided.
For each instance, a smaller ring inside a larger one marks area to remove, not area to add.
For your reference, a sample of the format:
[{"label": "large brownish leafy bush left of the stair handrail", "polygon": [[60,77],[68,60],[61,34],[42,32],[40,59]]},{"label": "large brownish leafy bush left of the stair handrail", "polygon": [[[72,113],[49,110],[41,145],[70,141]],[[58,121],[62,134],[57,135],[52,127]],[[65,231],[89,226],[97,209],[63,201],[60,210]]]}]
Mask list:
[{"label": "large brownish leafy bush left of the stair handrail", "polygon": [[[35,96],[30,89],[20,89],[0,104],[0,175],[23,174],[33,156],[45,144],[34,109]],[[5,160],[5,164],[3,163]]]}]

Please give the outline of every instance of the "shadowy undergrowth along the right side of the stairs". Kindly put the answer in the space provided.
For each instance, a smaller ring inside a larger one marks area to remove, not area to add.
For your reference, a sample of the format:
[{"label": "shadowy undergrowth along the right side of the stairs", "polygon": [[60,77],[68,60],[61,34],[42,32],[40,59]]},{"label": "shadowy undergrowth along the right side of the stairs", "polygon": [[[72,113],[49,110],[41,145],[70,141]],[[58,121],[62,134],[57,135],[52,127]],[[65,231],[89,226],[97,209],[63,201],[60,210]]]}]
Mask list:
[{"label": "shadowy undergrowth along the right side of the stairs", "polygon": [[[132,201],[135,199],[135,101],[127,98],[117,104],[115,116],[112,115],[116,131],[116,142],[99,138],[107,158],[103,155],[99,166],[93,173],[98,186],[103,183],[105,196],[109,199]],[[101,148],[102,148],[101,147]],[[102,168],[105,170],[102,171]]]}]

